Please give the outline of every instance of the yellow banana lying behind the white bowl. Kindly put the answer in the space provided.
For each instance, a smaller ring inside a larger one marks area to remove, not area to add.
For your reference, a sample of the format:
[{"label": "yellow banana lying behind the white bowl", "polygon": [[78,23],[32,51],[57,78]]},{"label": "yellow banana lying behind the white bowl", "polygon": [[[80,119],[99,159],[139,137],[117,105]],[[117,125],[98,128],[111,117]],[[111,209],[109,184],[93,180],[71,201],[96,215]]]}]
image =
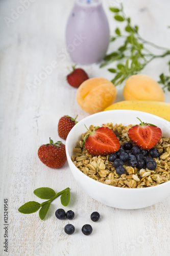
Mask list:
[{"label": "yellow banana lying behind the white bowl", "polygon": [[124,100],[108,106],[107,110],[138,110],[162,117],[170,122],[170,103],[148,100]]}]

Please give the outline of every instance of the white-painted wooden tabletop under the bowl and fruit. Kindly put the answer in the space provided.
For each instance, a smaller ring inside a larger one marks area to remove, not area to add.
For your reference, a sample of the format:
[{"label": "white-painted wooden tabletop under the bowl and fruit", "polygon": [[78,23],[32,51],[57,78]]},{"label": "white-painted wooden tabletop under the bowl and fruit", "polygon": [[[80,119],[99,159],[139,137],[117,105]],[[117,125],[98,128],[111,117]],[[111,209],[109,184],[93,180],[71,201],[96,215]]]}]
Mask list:
[{"label": "white-painted wooden tabletop under the bowl and fruit", "polygon": [[[76,102],[77,89],[70,87],[65,76],[74,63],[65,49],[65,25],[74,0],[29,0],[25,10],[17,9],[22,0],[1,0],[1,255],[57,255],[57,256],[126,256],[170,255],[169,210],[170,197],[148,208],[122,210],[105,206],[91,199],[72,177],[68,164],[60,169],[50,169],[38,157],[38,146],[47,143],[49,137],[59,140],[58,120],[63,115],[78,120],[88,116]],[[145,39],[158,45],[170,46],[169,0],[110,0],[104,1],[111,33],[117,24],[109,6],[123,2],[125,12],[139,25]],[[14,10],[22,14],[7,23]],[[7,26],[8,25],[8,26]],[[117,44],[112,44],[113,50]],[[62,57],[61,57],[62,53]],[[33,87],[35,75],[57,61],[56,68],[46,79]],[[143,73],[158,80],[161,72],[168,74],[168,58],[155,60]],[[81,66],[80,66],[81,67]],[[90,77],[112,78],[107,68],[99,65],[83,66]],[[123,100],[123,86],[117,88],[116,101]],[[165,101],[170,103],[170,93]],[[64,142],[64,141],[63,141]],[[60,191],[70,187],[71,199],[65,210],[75,211],[75,219],[69,221],[76,227],[72,236],[63,229],[67,220],[59,221],[55,210],[61,208],[60,199],[53,201],[44,221],[38,212],[23,215],[18,208],[36,198],[33,190],[48,186]],[[8,199],[9,246],[4,252],[4,199]],[[99,211],[101,219],[92,223],[90,214]],[[84,236],[81,228],[89,223],[93,227],[90,236]]]}]

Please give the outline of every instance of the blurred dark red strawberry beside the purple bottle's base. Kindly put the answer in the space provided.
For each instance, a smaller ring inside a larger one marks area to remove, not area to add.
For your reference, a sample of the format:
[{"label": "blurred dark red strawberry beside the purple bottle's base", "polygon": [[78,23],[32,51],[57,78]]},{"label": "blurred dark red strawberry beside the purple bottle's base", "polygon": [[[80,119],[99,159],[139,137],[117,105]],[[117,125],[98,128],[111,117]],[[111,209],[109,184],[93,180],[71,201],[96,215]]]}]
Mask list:
[{"label": "blurred dark red strawberry beside the purple bottle's base", "polygon": [[76,66],[72,67],[72,72],[67,75],[67,82],[72,87],[78,88],[82,82],[89,79],[87,73],[83,69],[76,69]]}]

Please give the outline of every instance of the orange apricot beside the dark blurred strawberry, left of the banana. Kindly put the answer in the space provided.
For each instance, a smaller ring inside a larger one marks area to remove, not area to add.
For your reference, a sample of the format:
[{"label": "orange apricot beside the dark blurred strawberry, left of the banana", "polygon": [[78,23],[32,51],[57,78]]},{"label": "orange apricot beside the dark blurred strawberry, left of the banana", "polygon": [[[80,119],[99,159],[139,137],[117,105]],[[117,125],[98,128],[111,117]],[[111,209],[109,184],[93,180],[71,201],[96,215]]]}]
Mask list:
[{"label": "orange apricot beside the dark blurred strawberry, left of the banana", "polygon": [[89,114],[103,111],[117,95],[114,84],[105,78],[90,78],[77,91],[77,102]]}]

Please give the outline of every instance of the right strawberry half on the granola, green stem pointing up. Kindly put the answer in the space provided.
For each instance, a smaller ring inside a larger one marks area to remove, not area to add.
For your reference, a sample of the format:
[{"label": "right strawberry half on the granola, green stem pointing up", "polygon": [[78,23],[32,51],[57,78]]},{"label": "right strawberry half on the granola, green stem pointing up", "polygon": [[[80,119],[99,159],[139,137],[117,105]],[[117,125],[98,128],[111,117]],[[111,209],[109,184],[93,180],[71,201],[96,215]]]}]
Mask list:
[{"label": "right strawberry half on the granola, green stem pointing up", "polygon": [[[139,119],[139,118],[138,118]],[[162,131],[159,127],[141,122],[139,125],[132,126],[128,131],[130,140],[143,148],[144,150],[150,150],[160,140]]]}]

